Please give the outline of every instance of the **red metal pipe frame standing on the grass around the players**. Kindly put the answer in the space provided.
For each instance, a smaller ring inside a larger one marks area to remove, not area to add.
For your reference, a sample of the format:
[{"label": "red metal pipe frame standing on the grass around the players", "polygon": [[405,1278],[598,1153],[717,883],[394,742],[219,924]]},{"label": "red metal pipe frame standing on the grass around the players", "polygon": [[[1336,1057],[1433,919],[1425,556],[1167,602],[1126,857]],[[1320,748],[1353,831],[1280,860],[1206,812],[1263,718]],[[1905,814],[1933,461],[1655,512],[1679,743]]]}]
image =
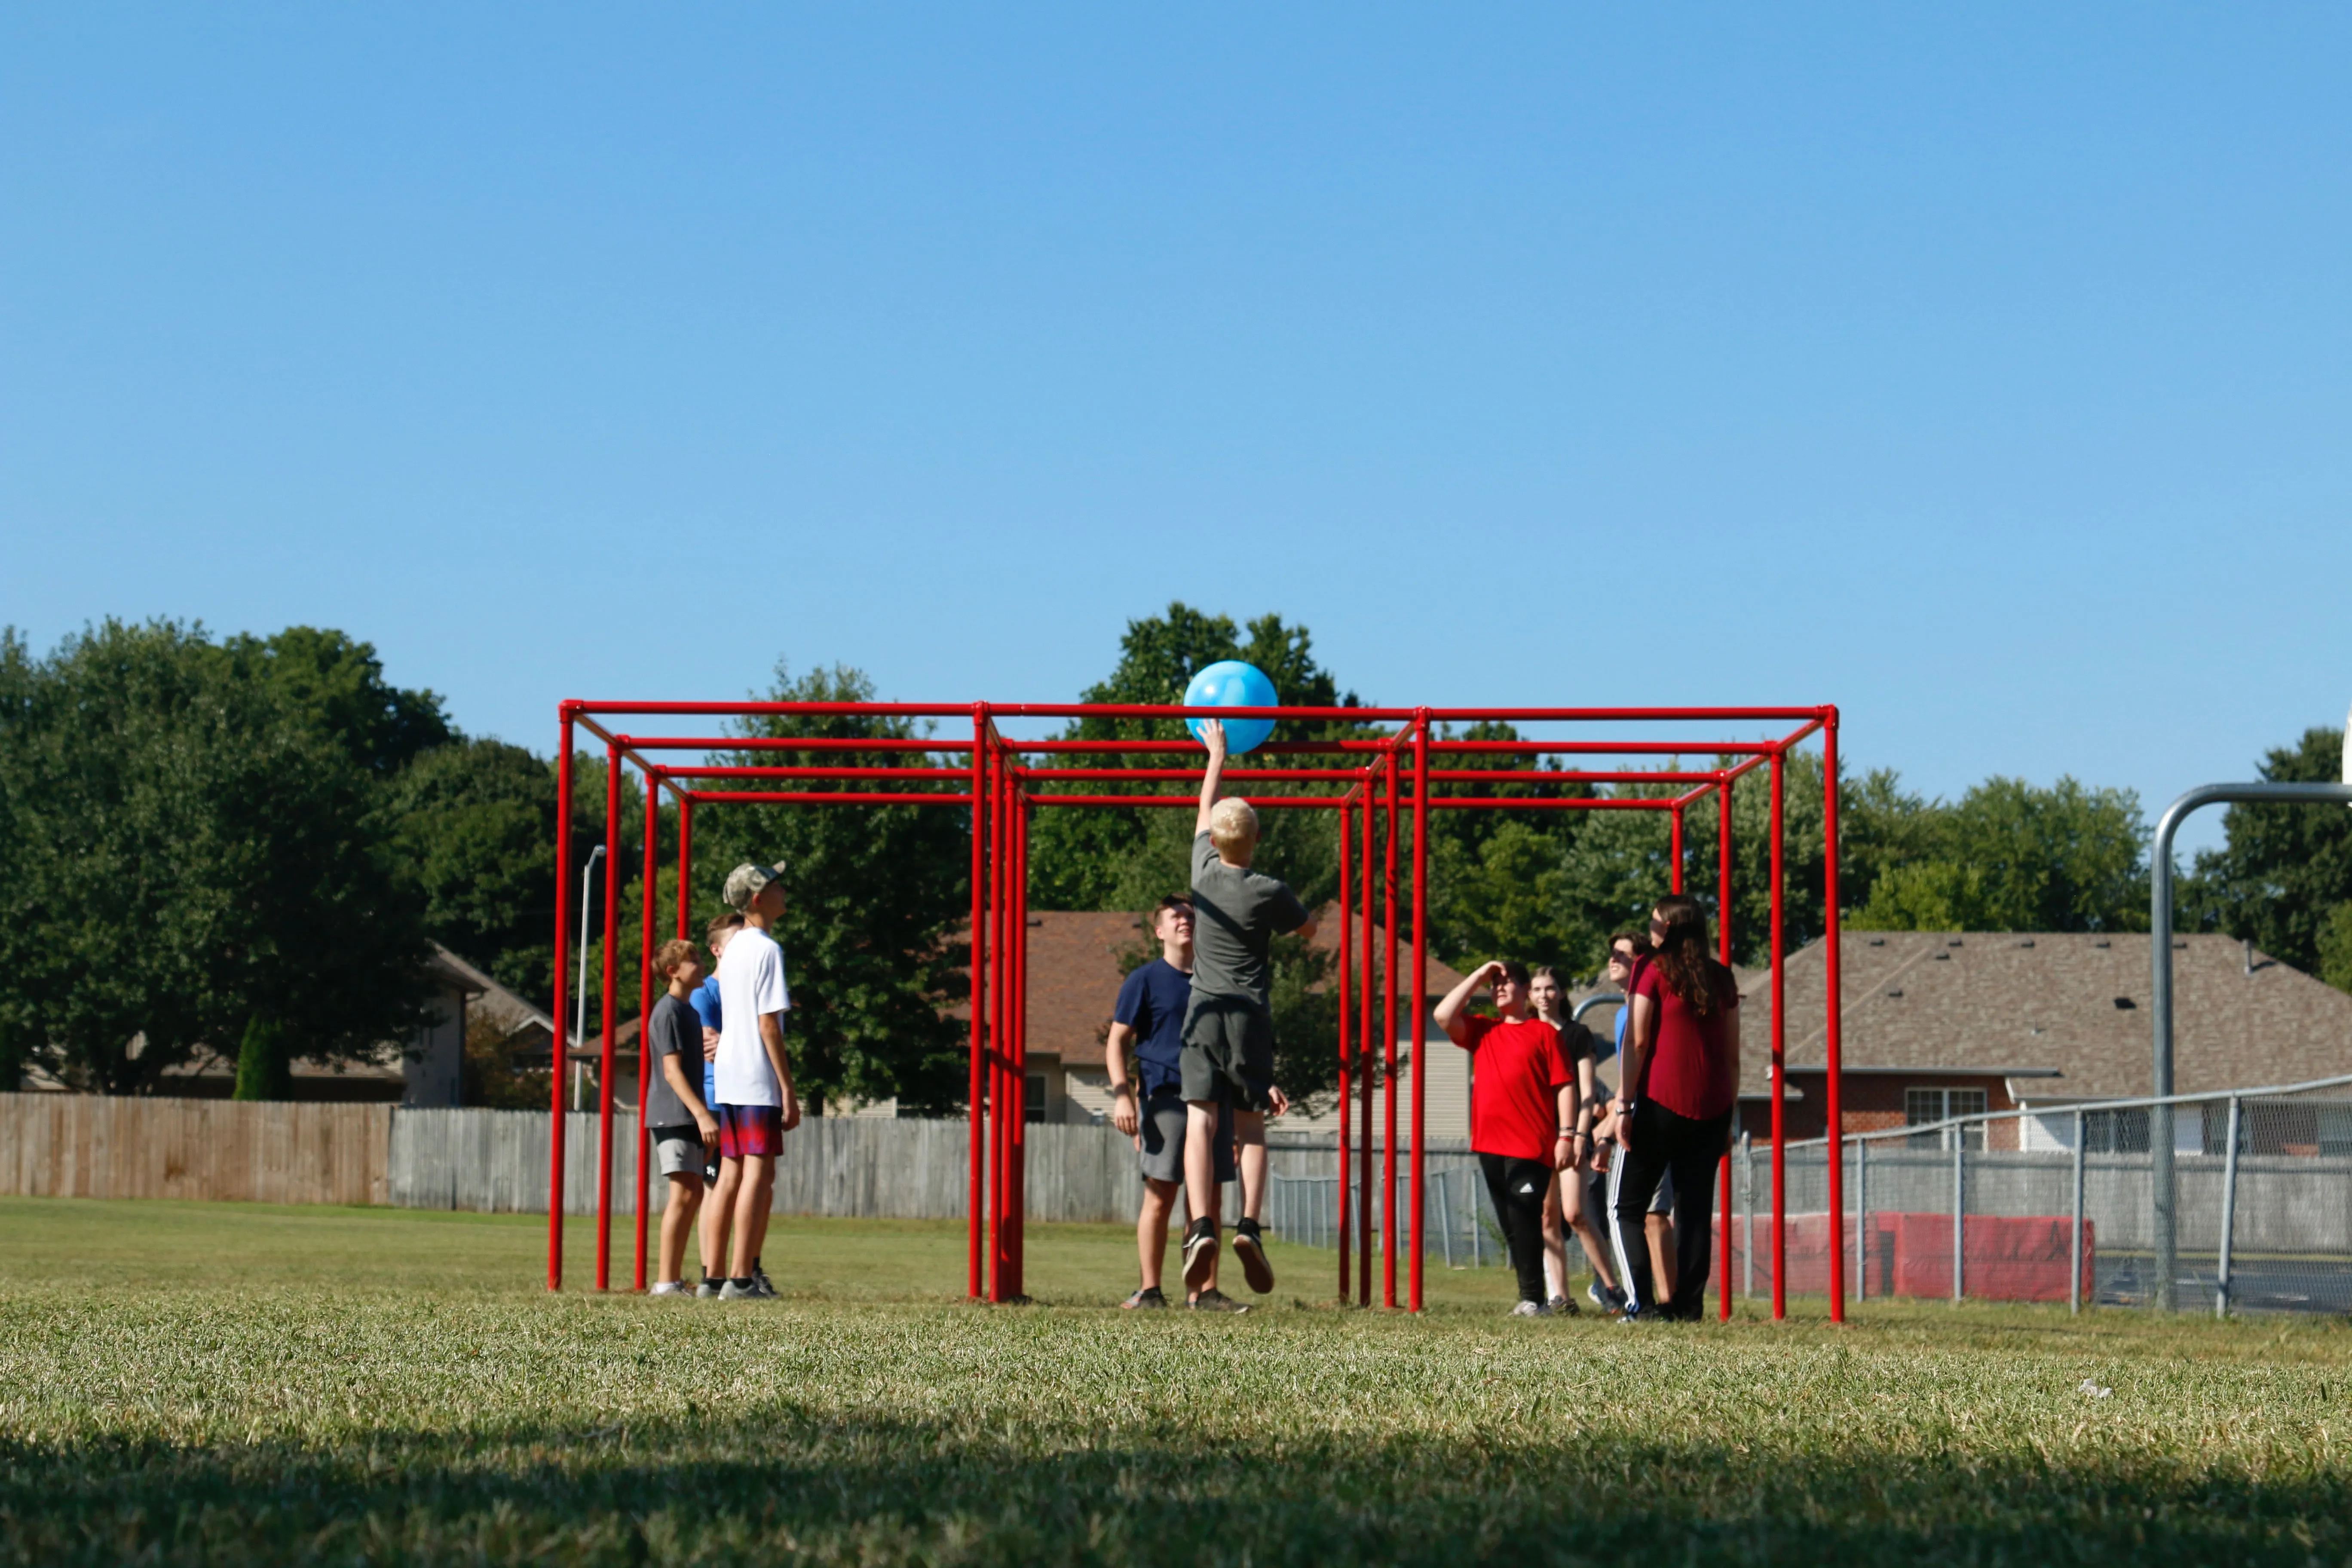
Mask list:
[{"label": "red metal pipe frame standing on the grass around the players", "polygon": [[[1406,1307],[1423,1305],[1423,1246],[1421,1222],[1425,1211],[1423,1187],[1423,1124],[1425,1079],[1411,1072],[1409,1105],[1409,1190],[1406,1215],[1399,1234],[1397,1215],[1397,947],[1399,889],[1397,889],[1397,835],[1399,818],[1409,811],[1411,832],[1411,997],[1409,1067],[1423,1060],[1430,1046],[1428,1030],[1428,823],[1432,811],[1665,811],[1670,818],[1670,889],[1684,889],[1684,813],[1689,806],[1715,797],[1717,804],[1717,900],[1719,900],[1719,952],[1731,961],[1731,867],[1733,823],[1731,785],[1743,773],[1771,769],[1771,1126],[1773,1126],[1773,1316],[1783,1316],[1785,1302],[1785,1166],[1783,1166],[1783,1046],[1785,1046],[1785,973],[1783,973],[1783,776],[1790,750],[1816,731],[1823,733],[1825,799],[1823,837],[1828,846],[1828,875],[1823,893],[1828,898],[1828,1117],[1839,1126],[1839,964],[1837,964],[1837,710],[1835,708],[1225,708],[1185,710],[1174,705],[1110,705],[1110,703],[1061,703],[1061,705],[1000,705],[971,703],[969,708],[936,708],[922,703],[562,703],[557,717],[562,726],[562,755],[557,759],[557,877],[555,898],[555,1018],[564,1018],[569,926],[572,910],[572,792],[574,792],[574,736],[579,729],[604,741],[607,759],[607,853],[604,853],[604,1006],[602,1006],[602,1072],[597,1074],[600,1159],[597,1159],[597,1272],[600,1291],[609,1288],[609,1234],[612,1234],[612,1063],[614,1063],[614,964],[619,919],[619,816],[621,771],[635,766],[644,778],[644,898],[642,898],[642,964],[640,964],[640,1018],[649,1013],[654,994],[652,947],[654,947],[654,877],[659,844],[659,797],[663,790],[677,802],[677,933],[689,933],[694,875],[694,811],[706,804],[769,802],[802,806],[854,806],[854,804],[920,804],[971,811],[971,1018],[969,1018],[969,1117],[971,1117],[971,1201],[967,1211],[967,1293],[988,1300],[1018,1300],[1023,1286],[1023,1187],[1025,1187],[1025,1100],[1028,1100],[1028,825],[1037,809],[1190,809],[1195,795],[1070,795],[1044,790],[1042,785],[1068,783],[1197,783],[1200,769],[1190,762],[1178,766],[1030,766],[1028,757],[1155,757],[1200,755],[1188,741],[1009,741],[1000,733],[1000,719],[1157,719],[1192,717],[1216,712],[1218,717],[1270,717],[1270,719],[1343,719],[1350,724],[1392,724],[1388,733],[1350,741],[1275,743],[1258,755],[1296,757],[1322,755],[1341,759],[1341,766],[1303,769],[1228,769],[1235,783],[1324,783],[1341,785],[1338,792],[1322,795],[1265,795],[1247,797],[1258,809],[1272,811],[1334,811],[1338,816],[1341,849],[1341,933],[1338,933],[1338,985],[1336,1006],[1341,1011],[1341,1182],[1338,1182],[1338,1293],[1348,1300],[1350,1284],[1359,1305],[1371,1305],[1371,1232],[1374,1232],[1374,1093],[1376,1081],[1383,1100],[1385,1135],[1381,1143],[1381,1295],[1388,1307],[1397,1305],[1397,1251],[1406,1251]],[[630,736],[607,729],[602,719],[644,715],[710,715],[710,717],[917,717],[917,719],[971,719],[969,741],[936,738],[736,738],[736,736]],[[1439,733],[1454,722],[1566,722],[1566,724],[1684,724],[1684,722],[1797,722],[1799,726],[1776,741],[1454,741]],[[656,764],[647,752],[779,752],[802,755],[816,762],[731,764],[710,766],[696,762]],[[962,757],[955,766],[906,769],[870,766],[858,762],[826,764],[830,755],[901,752],[910,757]],[[1689,757],[1715,755],[1724,759],[1705,771],[1628,771],[1628,769],[1461,769],[1432,766],[1442,757]],[[696,788],[696,780],[717,785],[736,783],[790,783],[790,785],[863,785],[856,790],[826,788]],[[882,790],[870,785],[903,785]],[[1411,790],[1406,792],[1406,783]],[[1552,795],[1437,795],[1432,785],[1592,785],[1592,783],[1639,783],[1684,785],[1677,795],[1632,797],[1552,797]],[[946,788],[960,785],[960,788]],[[1376,842],[1378,839],[1378,846]],[[1355,905],[1350,905],[1355,898]],[[1378,924],[1374,898],[1381,903]],[[1350,933],[1348,919],[1355,919]],[[1381,938],[1381,940],[1376,940]],[[1381,952],[1385,950],[1385,952]],[[1378,994],[1378,1018],[1374,997]],[[1376,1027],[1378,1025],[1378,1027]],[[1378,1046],[1376,1046],[1378,1041]],[[1374,1063],[1374,1048],[1381,1063]],[[560,1060],[560,1058],[557,1058]],[[649,1056],[640,1044],[637,1103],[644,1103],[649,1084]],[[562,1204],[564,1204],[564,1093],[562,1072],[555,1074],[550,1107],[555,1131],[548,1166],[548,1288],[562,1286]],[[1350,1093],[1355,1095],[1350,1105]],[[1350,1135],[1348,1117],[1355,1114]],[[1357,1161],[1350,1192],[1348,1159]],[[644,1133],[637,1135],[640,1180],[647,1168]],[[1844,1227],[1844,1190],[1837,1161],[1830,1161],[1830,1234]],[[1729,1157],[1722,1166],[1722,1234],[1719,1234],[1719,1312],[1731,1316],[1731,1182]],[[1352,1222],[1352,1232],[1350,1232]],[[647,1258],[647,1204],[637,1201],[637,1269],[635,1284],[644,1288]],[[1752,1244],[1752,1239],[1750,1239]],[[1830,1248],[1830,1316],[1844,1319],[1844,1269],[1842,1248]],[[1355,1279],[1350,1281],[1350,1262]]]}]

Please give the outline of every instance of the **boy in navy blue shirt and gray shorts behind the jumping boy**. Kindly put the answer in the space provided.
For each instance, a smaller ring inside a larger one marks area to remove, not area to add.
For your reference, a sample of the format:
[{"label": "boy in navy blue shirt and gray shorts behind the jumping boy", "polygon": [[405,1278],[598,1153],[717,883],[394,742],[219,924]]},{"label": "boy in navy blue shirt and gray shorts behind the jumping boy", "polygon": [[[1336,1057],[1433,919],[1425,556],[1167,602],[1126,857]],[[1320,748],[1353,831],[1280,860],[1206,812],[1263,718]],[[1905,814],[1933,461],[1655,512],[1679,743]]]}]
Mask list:
[{"label": "boy in navy blue shirt and gray shorts behind the jumping boy", "polygon": [[[1110,1013],[1110,1034],[1103,1041],[1103,1065],[1110,1070],[1112,1110],[1110,1124],[1136,1140],[1143,1154],[1143,1211],[1136,1215],[1136,1258],[1143,1267],[1143,1286],[1122,1307],[1167,1307],[1160,1291],[1160,1265],[1169,1246],[1169,1213],[1183,1190],[1183,1016],[1192,1001],[1192,903],[1185,898],[1162,898],[1152,910],[1152,936],[1160,940],[1160,957],[1143,964],[1120,985],[1120,1001]],[[1136,1091],[1127,1081],[1127,1048],[1136,1051],[1136,1077],[1143,1079],[1141,1107]],[[1218,1117],[1216,1128],[1216,1180],[1230,1182],[1232,1168],[1232,1112]],[[1223,1190],[1221,1190],[1223,1194]],[[1200,1312],[1249,1312],[1216,1288],[1216,1269],[1185,1302]]]}]

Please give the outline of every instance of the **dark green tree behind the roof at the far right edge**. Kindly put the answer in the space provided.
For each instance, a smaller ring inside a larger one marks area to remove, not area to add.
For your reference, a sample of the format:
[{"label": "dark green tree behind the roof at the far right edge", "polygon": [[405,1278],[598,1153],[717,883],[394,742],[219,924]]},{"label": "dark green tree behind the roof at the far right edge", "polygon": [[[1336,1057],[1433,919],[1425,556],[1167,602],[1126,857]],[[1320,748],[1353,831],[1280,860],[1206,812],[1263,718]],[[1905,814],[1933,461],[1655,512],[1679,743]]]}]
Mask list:
[{"label": "dark green tree behind the roof at the far right edge", "polygon": [[[2307,729],[2263,757],[2263,778],[2340,778],[2345,731]],[[2249,938],[2286,964],[2352,990],[2352,811],[2239,804],[2223,816],[2223,846],[2197,856],[2180,905],[2201,931]]]}]

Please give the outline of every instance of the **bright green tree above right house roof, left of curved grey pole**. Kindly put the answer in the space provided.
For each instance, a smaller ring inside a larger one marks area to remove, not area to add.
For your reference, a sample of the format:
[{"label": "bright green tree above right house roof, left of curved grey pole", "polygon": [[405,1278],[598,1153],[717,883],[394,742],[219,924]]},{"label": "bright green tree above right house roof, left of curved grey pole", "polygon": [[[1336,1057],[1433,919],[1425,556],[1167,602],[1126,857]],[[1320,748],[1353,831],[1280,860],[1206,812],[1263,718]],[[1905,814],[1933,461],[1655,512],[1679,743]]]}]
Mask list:
[{"label": "bright green tree above right house roof, left of curved grey pole", "polygon": [[2147,820],[2131,790],[1987,778],[1931,813],[1926,853],[1886,867],[1867,931],[2145,931]]}]

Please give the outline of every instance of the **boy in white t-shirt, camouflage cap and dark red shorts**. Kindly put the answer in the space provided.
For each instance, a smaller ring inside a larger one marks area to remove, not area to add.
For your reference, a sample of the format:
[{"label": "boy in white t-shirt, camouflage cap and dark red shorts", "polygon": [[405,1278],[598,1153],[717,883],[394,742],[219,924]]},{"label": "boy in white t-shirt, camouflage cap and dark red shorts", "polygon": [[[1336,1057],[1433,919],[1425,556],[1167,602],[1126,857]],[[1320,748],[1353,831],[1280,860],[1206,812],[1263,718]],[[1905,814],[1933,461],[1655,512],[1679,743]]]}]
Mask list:
[{"label": "boy in white t-shirt, camouflage cap and dark red shorts", "polygon": [[[727,872],[727,903],[743,912],[743,929],[720,954],[720,1053],[713,1063],[720,1103],[720,1182],[713,1201],[734,1222],[727,1255],[741,1269],[760,1255],[767,1211],[776,1197],[776,1154],[800,1126],[793,1063],[783,1051],[783,947],[771,931],[783,919],[783,865],[739,865]],[[720,1300],[774,1295],[757,1274],[736,1274]]]}]

